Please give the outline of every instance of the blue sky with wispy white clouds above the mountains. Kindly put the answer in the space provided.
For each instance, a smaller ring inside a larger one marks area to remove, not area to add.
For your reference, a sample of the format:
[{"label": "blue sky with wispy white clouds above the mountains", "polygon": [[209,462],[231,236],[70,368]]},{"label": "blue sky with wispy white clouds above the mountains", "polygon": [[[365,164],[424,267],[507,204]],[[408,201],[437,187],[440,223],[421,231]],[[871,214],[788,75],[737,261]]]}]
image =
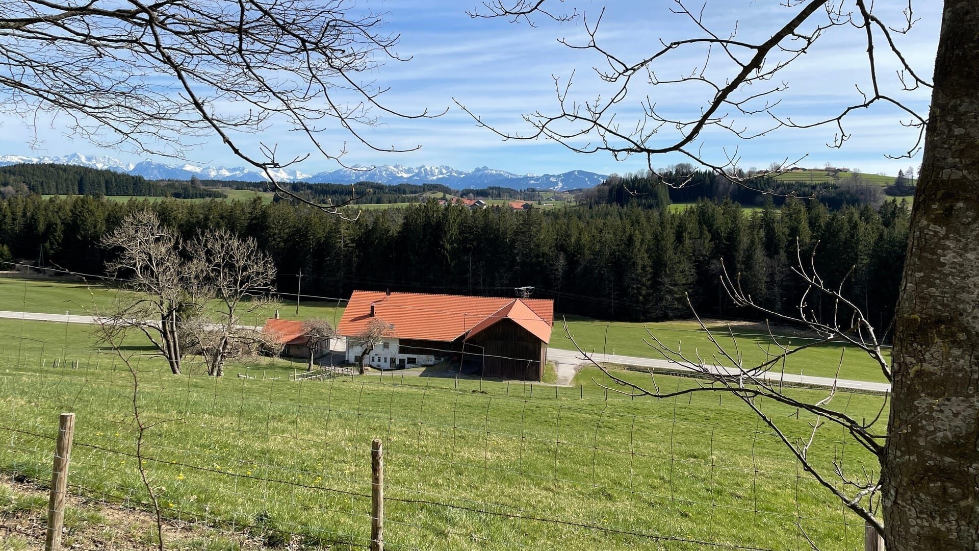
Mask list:
[{"label": "blue sky with wispy white clouds above the mountains", "polygon": [[[598,40],[625,60],[634,61],[648,54],[659,45],[659,40],[670,41],[697,35],[694,25],[683,16],[670,13],[673,0],[567,0],[555,4],[556,9],[578,9],[595,18],[602,6],[606,7]],[[839,2],[839,0],[837,0]],[[711,0],[704,11],[705,25],[719,34],[729,34],[736,23],[738,38],[759,40],[768,36],[776,25],[783,25],[794,14],[781,7],[780,0]],[[903,24],[903,2],[879,2],[877,13],[893,26]],[[852,3],[845,1],[847,8]],[[390,154],[370,151],[351,142],[343,130],[324,134],[327,143],[339,149],[347,141],[348,164],[404,164],[449,165],[457,169],[471,170],[489,166],[516,173],[560,173],[574,169],[602,174],[628,173],[644,167],[644,160],[629,159],[616,162],[611,155],[576,154],[548,140],[504,142],[486,128],[475,125],[469,116],[453,103],[453,98],[479,114],[489,124],[511,132],[530,130],[522,115],[539,110],[555,113],[557,103],[554,81],[551,75],[567,78],[575,73],[571,96],[580,101],[594,100],[598,95],[607,97],[611,88],[601,82],[591,68],[601,60],[592,52],[570,50],[557,42],[558,37],[580,43],[583,40],[583,21],[556,24],[540,21],[536,27],[513,25],[504,20],[473,20],[465,10],[476,7],[475,0],[423,1],[391,0],[362,2],[365,9],[387,12],[387,30],[401,35],[396,51],[411,56],[408,62],[389,62],[368,75],[378,84],[390,86],[383,97],[397,110],[417,112],[422,108],[448,112],[439,119],[424,121],[382,119],[382,125],[367,132],[379,145],[397,147],[421,145],[410,153]],[[689,3],[691,9],[701,4]],[[940,26],[941,3],[918,2],[914,6],[915,18],[920,21],[905,35],[897,35],[899,45],[912,67],[919,75],[930,78]],[[891,11],[888,11],[891,10]],[[821,20],[820,20],[821,21]],[[855,84],[869,89],[867,58],[862,29],[837,27],[821,37],[813,50],[794,62],[780,80],[788,84],[782,94],[782,103],[776,108],[783,116],[791,116],[799,123],[816,121],[830,116],[851,103],[859,103],[860,94]],[[927,110],[926,92],[898,93],[900,84],[894,76],[896,68],[893,56],[885,55],[879,48],[880,75],[883,87],[905,100],[920,113]],[[662,78],[687,74],[703,64],[702,50],[678,50],[656,66]],[[730,74],[730,67],[723,67],[717,53],[712,60],[712,75],[722,79]],[[761,91],[758,88],[756,91]],[[619,104],[617,121],[623,125],[634,124],[639,114],[639,101],[649,97],[657,109],[677,117],[696,114],[709,97],[704,88],[696,86],[635,86],[629,96]],[[141,157],[120,151],[107,151],[88,144],[80,138],[66,136],[65,126],[58,119],[41,120],[37,125],[41,145],[38,149],[28,146],[29,132],[23,121],[11,116],[0,117],[4,131],[0,134],[0,153],[23,155],[60,155],[70,152],[112,155],[122,159]],[[761,129],[770,123],[764,117],[740,118],[737,125]],[[889,160],[885,154],[900,154],[914,142],[915,131],[899,123],[899,114],[893,108],[878,107],[852,115],[846,122],[851,139],[842,149],[826,146],[833,140],[837,129],[825,126],[816,129],[781,129],[768,136],[751,141],[741,140],[727,132],[705,132],[698,143],[700,151],[711,161],[719,161],[724,152],[734,148],[741,157],[743,168],[766,167],[772,161],[794,161],[807,155],[800,164],[859,168],[863,172],[896,174],[898,169],[917,166],[920,155],[913,160]],[[653,143],[666,143],[675,138],[666,128],[654,136]],[[300,136],[288,132],[286,127],[268,128],[260,135],[241,136],[241,143],[256,152],[259,141],[276,143],[283,153],[302,154],[310,150]],[[198,163],[241,166],[219,142],[211,140],[204,146],[187,152],[187,158]],[[663,167],[685,159],[665,155],[654,161]],[[323,158],[311,157],[301,170],[315,173],[332,170],[337,166]]]}]

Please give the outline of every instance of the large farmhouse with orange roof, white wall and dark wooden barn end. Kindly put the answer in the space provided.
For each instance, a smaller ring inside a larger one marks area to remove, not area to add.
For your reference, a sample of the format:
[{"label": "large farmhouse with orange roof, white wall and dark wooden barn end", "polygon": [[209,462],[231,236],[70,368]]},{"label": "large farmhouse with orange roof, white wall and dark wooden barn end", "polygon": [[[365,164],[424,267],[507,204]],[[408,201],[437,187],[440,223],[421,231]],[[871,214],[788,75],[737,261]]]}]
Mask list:
[{"label": "large farmhouse with orange roof, white wall and dark wooden barn end", "polygon": [[388,332],[367,350],[364,365],[389,370],[450,360],[480,376],[540,380],[554,301],[353,291],[338,327],[348,362],[360,361],[365,346],[358,334],[373,320]]}]

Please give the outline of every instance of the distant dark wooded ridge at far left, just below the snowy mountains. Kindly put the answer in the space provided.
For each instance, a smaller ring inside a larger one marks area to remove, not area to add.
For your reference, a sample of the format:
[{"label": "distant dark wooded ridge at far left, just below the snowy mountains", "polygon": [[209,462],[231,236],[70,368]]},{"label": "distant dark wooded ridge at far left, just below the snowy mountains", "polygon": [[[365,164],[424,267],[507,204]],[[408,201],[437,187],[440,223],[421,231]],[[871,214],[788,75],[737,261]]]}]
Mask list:
[{"label": "distant dark wooded ridge at far left, just below the snowy mountains", "polygon": [[199,199],[224,194],[187,181],[152,181],[137,175],[74,165],[30,164],[0,167],[2,195],[29,191],[40,195],[136,195]]}]

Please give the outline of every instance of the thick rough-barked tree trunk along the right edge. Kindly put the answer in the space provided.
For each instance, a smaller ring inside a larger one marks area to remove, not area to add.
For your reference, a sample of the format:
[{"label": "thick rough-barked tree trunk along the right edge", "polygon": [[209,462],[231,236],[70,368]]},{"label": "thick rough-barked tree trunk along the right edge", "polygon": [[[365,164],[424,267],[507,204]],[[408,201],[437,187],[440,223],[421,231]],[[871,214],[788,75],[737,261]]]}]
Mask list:
[{"label": "thick rough-barked tree trunk along the right edge", "polygon": [[888,551],[979,549],[979,2],[946,0],[894,334]]}]

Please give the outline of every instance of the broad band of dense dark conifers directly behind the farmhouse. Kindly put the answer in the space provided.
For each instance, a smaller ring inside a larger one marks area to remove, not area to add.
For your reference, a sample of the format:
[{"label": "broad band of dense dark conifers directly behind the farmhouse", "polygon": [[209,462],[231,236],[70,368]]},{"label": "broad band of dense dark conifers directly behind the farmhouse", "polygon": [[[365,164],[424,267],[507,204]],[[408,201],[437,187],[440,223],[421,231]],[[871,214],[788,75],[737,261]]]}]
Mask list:
[{"label": "broad band of dense dark conifers directly behind the farmhouse", "polygon": [[[561,313],[647,321],[701,315],[758,318],[732,306],[723,267],[776,312],[795,313],[805,290],[791,272],[796,243],[831,285],[887,326],[893,317],[908,241],[909,212],[889,200],[874,209],[830,211],[818,202],[769,202],[751,214],[727,200],[682,212],[634,206],[470,211],[436,202],[364,211],[359,221],[285,202],[260,200],[115,203],[92,197],[0,201],[0,256],[101,274],[98,243],[129,212],[150,209],[190,237],[226,227],[254,236],[278,268],[277,288],[348,297],[353,289],[513,296],[534,286]],[[817,246],[816,246],[817,245]],[[817,296],[807,308],[828,314]],[[882,329],[883,330],[883,329]]]}]

